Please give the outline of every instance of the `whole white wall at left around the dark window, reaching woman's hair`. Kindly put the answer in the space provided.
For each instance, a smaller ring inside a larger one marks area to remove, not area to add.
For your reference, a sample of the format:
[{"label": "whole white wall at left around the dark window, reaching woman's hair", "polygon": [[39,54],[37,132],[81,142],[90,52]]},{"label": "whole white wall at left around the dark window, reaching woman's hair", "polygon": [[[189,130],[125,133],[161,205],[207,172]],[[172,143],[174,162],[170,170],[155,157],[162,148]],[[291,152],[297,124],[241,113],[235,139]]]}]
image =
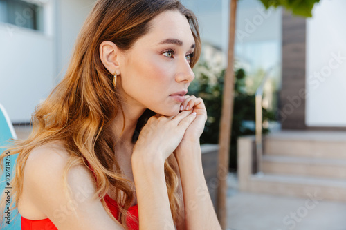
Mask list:
[{"label": "whole white wall at left around the dark window, reaching woman's hair", "polygon": [[95,1],[45,0],[44,29],[0,23],[0,103],[13,123],[30,122],[64,75],[75,38]]}]

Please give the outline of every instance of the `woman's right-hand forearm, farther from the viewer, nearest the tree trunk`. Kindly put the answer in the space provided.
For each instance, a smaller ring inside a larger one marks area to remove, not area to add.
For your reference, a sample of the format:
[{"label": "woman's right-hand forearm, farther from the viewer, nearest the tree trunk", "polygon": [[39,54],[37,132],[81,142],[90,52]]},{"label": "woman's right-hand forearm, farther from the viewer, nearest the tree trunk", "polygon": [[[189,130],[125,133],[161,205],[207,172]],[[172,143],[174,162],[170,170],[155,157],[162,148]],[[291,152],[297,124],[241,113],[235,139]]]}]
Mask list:
[{"label": "woman's right-hand forearm, farther from the viewer, nearest the tree trunk", "polygon": [[203,174],[199,143],[176,150],[185,204],[186,229],[221,229]]}]

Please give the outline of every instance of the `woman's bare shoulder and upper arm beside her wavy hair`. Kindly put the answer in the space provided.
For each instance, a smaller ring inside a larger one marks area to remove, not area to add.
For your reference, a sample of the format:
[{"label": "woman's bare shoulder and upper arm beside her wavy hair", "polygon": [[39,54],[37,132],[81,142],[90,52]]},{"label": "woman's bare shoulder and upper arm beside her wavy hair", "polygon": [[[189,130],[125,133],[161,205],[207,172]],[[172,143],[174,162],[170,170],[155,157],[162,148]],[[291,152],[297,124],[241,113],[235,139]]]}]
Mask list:
[{"label": "woman's bare shoulder and upper arm beside her wavy hair", "polygon": [[65,182],[69,159],[59,142],[30,152],[24,168],[21,215],[31,220],[49,218],[57,229],[122,229],[95,196],[95,180],[86,166],[72,166]]}]

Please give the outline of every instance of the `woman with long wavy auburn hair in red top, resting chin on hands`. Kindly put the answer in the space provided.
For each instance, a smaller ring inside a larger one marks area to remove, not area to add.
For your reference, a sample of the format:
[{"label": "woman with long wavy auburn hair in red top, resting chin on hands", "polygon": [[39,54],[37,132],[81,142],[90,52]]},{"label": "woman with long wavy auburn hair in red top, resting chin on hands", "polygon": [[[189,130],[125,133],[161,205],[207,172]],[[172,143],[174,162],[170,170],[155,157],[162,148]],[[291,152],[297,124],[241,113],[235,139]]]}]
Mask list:
[{"label": "woman with long wavy auburn hair in red top, resting chin on hands", "polygon": [[220,229],[201,166],[206,108],[186,95],[200,50],[178,0],[95,3],[33,133],[9,150],[22,229]]}]

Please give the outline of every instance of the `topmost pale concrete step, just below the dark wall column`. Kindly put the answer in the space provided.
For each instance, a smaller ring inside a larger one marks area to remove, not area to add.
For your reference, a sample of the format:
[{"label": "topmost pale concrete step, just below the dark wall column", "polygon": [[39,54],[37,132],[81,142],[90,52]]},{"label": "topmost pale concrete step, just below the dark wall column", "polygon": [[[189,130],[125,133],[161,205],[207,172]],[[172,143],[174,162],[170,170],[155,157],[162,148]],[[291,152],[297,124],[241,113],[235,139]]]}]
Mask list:
[{"label": "topmost pale concrete step, just below the dark wall column", "polygon": [[346,160],[345,131],[281,131],[264,138],[266,155]]}]

